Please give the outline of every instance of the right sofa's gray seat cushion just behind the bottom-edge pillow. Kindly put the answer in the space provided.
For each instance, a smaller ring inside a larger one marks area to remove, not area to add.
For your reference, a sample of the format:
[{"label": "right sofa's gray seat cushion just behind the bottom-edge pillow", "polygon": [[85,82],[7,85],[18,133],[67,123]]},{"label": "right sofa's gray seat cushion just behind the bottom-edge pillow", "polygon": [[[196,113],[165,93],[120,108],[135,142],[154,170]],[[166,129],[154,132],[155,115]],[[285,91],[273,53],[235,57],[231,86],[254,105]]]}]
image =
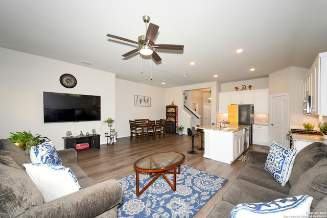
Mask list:
[{"label": "right sofa's gray seat cushion just behind the bottom-edge pillow", "polygon": [[269,188],[255,185],[251,182],[237,179],[226,190],[222,200],[233,205],[241,203],[269,202],[288,195]]}]

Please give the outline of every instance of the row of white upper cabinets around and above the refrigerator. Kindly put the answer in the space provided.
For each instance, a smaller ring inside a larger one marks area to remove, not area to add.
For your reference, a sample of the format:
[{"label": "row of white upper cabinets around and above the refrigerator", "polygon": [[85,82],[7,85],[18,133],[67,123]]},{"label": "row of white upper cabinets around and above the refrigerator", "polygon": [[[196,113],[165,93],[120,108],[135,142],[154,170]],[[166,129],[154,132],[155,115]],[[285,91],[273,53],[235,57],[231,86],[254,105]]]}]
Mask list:
[{"label": "row of white upper cabinets around and above the refrigerator", "polygon": [[268,114],[268,89],[219,93],[219,113],[228,113],[228,105],[254,105],[255,114]]}]

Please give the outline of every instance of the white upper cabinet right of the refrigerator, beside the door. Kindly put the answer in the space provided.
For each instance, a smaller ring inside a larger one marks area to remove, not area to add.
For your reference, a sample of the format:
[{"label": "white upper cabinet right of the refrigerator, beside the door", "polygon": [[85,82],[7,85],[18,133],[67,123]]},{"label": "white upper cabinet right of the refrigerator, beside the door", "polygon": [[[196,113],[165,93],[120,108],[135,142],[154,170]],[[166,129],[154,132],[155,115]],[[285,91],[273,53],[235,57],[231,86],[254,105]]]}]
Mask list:
[{"label": "white upper cabinet right of the refrigerator, beside the door", "polygon": [[253,92],[254,114],[268,114],[269,89]]}]

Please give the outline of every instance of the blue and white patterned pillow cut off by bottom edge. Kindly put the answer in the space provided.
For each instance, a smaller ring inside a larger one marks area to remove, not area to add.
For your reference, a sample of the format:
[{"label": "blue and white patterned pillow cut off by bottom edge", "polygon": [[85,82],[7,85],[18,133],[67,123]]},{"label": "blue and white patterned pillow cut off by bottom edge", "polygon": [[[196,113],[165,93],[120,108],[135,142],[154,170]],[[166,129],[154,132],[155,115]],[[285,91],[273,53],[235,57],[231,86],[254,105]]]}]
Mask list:
[{"label": "blue and white patterned pillow cut off by bottom edge", "polygon": [[309,217],[313,198],[308,195],[277,199],[256,204],[239,204],[229,214],[229,218],[285,218]]}]

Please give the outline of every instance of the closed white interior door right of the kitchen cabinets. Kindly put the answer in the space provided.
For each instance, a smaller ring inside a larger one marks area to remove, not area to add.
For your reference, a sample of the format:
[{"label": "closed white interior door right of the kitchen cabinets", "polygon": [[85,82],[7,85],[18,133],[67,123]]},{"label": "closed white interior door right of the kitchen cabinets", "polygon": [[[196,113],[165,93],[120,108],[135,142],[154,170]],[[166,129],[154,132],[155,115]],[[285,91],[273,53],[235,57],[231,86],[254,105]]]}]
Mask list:
[{"label": "closed white interior door right of the kitchen cabinets", "polygon": [[289,123],[288,116],[288,93],[270,96],[270,144],[276,141],[289,148],[286,138]]}]

